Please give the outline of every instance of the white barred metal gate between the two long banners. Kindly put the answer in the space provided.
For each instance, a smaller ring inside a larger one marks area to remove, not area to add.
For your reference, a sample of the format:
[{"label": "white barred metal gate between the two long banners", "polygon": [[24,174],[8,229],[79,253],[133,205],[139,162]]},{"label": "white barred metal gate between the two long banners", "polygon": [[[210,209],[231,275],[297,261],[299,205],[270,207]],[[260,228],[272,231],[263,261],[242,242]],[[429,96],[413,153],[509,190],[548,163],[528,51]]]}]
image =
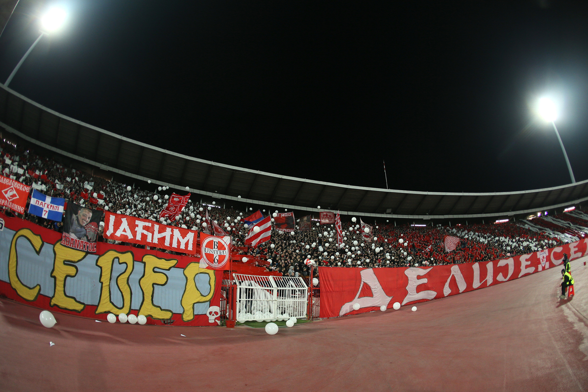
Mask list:
[{"label": "white barred metal gate between the two long banners", "polygon": [[233,274],[237,321],[306,318],[308,286],[301,277]]}]

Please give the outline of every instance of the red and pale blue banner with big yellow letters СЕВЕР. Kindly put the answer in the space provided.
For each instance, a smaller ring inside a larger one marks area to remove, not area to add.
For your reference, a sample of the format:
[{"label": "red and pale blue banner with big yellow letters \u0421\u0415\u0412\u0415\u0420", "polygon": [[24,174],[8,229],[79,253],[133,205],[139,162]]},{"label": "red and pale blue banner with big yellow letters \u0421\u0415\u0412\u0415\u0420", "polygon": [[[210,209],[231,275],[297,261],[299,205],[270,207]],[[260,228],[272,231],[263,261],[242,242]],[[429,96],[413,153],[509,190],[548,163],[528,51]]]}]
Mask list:
[{"label": "red and pale blue banner with big yellow letters \u0421\u0415\u0412\u0415\u0420", "polygon": [[[0,276],[2,297],[56,317],[65,313],[106,322],[109,313],[124,313],[142,314],[148,324],[220,324],[223,273],[199,267],[196,257],[105,242],[90,254],[62,246],[61,233],[54,230],[1,214],[0,220],[5,223],[0,244],[7,250],[0,260],[6,272]],[[117,278],[113,271],[121,265]],[[166,294],[153,295],[162,285]]]}]

